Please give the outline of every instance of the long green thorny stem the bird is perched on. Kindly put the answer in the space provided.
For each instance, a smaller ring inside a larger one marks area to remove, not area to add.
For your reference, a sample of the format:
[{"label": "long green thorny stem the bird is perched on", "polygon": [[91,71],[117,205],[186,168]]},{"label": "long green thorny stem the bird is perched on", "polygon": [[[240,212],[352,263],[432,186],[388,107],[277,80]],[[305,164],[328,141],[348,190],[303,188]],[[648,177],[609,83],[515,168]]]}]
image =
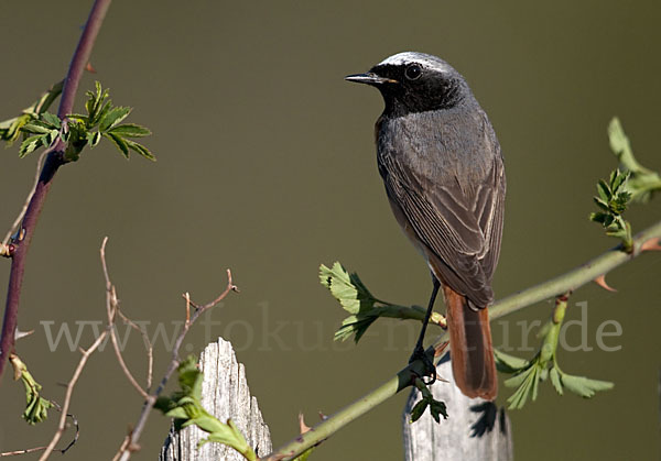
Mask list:
[{"label": "long green thorny stem the bird is perched on", "polygon": [[[553,298],[567,292],[574,292],[576,288],[590,283],[597,275],[606,274],[615,267],[639,256],[646,250],[643,246],[646,242],[650,241],[650,239],[659,238],[661,238],[661,221],[635,237],[633,251],[631,253],[626,253],[620,246],[618,246],[559,277],[552,278],[548,282],[510,295],[505,299],[498,300],[491,307],[489,307],[489,318],[490,320],[495,320],[524,307],[532,306],[541,300]],[[434,341],[434,344],[432,344],[425,351],[427,356],[430,359],[433,358],[435,361],[441,360],[444,353],[441,353],[434,358],[435,349],[441,348],[441,345],[447,340],[447,332],[438,337]],[[319,441],[328,438],[342,427],[348,425],[359,416],[365,415],[367,411],[392,397],[400,391],[409,387],[412,383],[412,378],[420,376],[424,372],[425,365],[422,360],[416,360],[410,363],[409,366],[401,370],[395,376],[388,380],[388,382],[383,383],[369,394],[362,396],[355,403],[340,409],[326,420],[314,426],[312,430],[296,436],[293,440],[280,449],[273,451],[271,454],[268,454],[264,458],[261,458],[261,460],[281,461],[294,459],[310,447],[313,447]]]}]

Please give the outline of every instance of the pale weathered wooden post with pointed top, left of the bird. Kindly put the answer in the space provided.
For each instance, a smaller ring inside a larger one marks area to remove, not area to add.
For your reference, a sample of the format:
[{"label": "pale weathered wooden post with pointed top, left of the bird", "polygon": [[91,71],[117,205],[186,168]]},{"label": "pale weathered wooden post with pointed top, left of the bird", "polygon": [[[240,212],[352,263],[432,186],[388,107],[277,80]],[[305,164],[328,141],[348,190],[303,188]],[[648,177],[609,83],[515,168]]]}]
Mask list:
[{"label": "pale weathered wooden post with pointed top, left of the bird", "polygon": [[[237,424],[248,443],[258,455],[271,452],[271,435],[264,422],[257,398],[250,395],[243,365],[237,362],[231,343],[218,338],[199,355],[199,366],[204,373],[202,405],[225,422],[231,418]],[[161,449],[160,461],[245,461],[234,449],[221,443],[206,443],[197,448],[206,433],[195,426],[175,432],[170,430]]]}]

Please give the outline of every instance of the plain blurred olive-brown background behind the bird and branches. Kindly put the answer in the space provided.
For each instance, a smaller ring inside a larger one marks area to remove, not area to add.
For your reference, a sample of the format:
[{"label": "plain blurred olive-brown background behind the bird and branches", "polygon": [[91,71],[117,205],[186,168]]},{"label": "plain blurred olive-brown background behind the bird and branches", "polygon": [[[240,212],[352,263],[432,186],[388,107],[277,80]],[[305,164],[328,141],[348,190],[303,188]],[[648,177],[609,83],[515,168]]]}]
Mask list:
[{"label": "plain blurred olive-brown background behind the bird and branches", "polygon": [[[2,2],[1,119],[65,75],[90,4]],[[193,330],[186,351],[220,334],[231,340],[274,444],[285,442],[299,410],[315,422],[318,410],[332,414],[398,371],[419,328],[380,321],[358,347],[333,343],[345,312],[318,284],[319,263],[342,261],[393,301],[424,304],[431,287],[376,168],[381,98],[343,77],[414,50],[444,57],[467,78],[506,156],[495,279],[501,297],[615,243],[587,220],[595,183],[616,165],[606,138],[613,116],[639,161],[661,169],[660,22],[653,1],[113,2],[93,54],[98,74],[86,75],[82,90],[98,79],[117,105],[133,106],[129,121],[153,130],[145,144],[158,162],[127,162],[106,143],[61,169],[30,251],[20,326],[35,333],[19,342],[20,355],[45,395],[62,402],[58,383],[69,380],[79,354],[64,339],[51,352],[46,326],[56,334],[65,323],[74,339],[80,327],[80,345],[91,341],[90,325],[80,321],[105,318],[105,235],[122,308],[150,321],[152,336],[161,325],[171,339],[184,316],[181,294],[212,299],[231,267],[241,293]],[[83,100],[80,91],[78,108]],[[36,161],[17,153],[3,152],[4,227],[23,204]],[[635,230],[659,220],[660,210],[659,199],[633,207]],[[618,293],[588,286],[573,296],[588,303],[584,339],[593,350],[563,351],[561,365],[616,387],[584,400],[542,386],[538,402],[510,414],[518,459],[659,455],[660,270],[660,255],[644,255],[608,277]],[[8,274],[4,261],[0,281]],[[535,345],[534,331],[522,337],[521,328],[546,319],[550,307],[495,325],[496,344]],[[579,318],[578,308],[570,310],[567,320]],[[605,339],[621,347],[615,352],[596,342],[607,320],[621,326],[620,337]],[[170,360],[162,338],[156,377]],[[582,343],[581,328],[567,330],[567,343]],[[127,359],[144,376],[134,333]],[[502,388],[499,403],[510,393]],[[401,459],[405,394],[343,429],[314,459]],[[6,375],[3,451],[43,444],[54,430],[55,414],[36,428],[20,419],[23,398],[22,385]],[[94,355],[73,400],[80,439],[67,459],[109,459],[140,406],[110,348]],[[167,426],[154,413],[134,458],[154,459]]]}]

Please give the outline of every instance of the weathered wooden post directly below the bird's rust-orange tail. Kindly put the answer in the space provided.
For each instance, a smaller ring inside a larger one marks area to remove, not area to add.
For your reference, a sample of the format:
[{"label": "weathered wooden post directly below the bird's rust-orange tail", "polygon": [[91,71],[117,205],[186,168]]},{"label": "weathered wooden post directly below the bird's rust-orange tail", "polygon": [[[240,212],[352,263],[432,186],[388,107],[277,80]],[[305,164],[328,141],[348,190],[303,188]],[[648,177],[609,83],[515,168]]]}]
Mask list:
[{"label": "weathered wooden post directly below the bird's rust-orange tail", "polygon": [[407,461],[511,461],[513,459],[510,421],[503,409],[481,398],[468,398],[452,377],[449,360],[437,367],[440,377],[430,387],[434,398],[445,402],[448,418],[437,424],[426,411],[410,422],[411,409],[420,400],[413,388],[403,417],[404,459]]}]

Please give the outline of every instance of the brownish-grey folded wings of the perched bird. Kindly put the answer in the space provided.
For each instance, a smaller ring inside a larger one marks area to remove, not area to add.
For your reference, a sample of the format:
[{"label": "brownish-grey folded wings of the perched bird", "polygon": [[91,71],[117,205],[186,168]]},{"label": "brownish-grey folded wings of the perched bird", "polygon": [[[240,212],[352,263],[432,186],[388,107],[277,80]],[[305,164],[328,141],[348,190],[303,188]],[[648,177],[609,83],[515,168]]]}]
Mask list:
[{"label": "brownish-grey folded wings of the perched bird", "polygon": [[[494,146],[498,149],[496,144]],[[478,307],[494,300],[491,276],[500,251],[505,175],[500,154],[478,184],[443,180],[382,156],[381,175],[436,275]],[[431,177],[430,177],[431,176]]]}]

